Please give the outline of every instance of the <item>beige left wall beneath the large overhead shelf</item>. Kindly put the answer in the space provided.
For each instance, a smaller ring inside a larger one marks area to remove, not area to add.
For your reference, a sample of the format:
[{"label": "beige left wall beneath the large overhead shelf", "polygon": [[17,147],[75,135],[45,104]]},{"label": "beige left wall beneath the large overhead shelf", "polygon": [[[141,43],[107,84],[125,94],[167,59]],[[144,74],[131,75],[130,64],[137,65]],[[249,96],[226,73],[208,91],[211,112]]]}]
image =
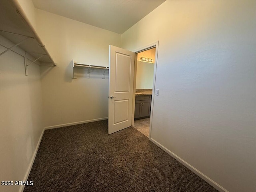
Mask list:
[{"label": "beige left wall beneath the large overhead shelf", "polygon": [[[2,36],[0,43],[13,45]],[[0,46],[0,52],[4,50]],[[26,180],[43,132],[40,68],[31,64],[28,70],[25,76],[22,56],[12,51],[0,56],[0,181]],[[0,191],[16,192],[20,187],[0,186]]]}]

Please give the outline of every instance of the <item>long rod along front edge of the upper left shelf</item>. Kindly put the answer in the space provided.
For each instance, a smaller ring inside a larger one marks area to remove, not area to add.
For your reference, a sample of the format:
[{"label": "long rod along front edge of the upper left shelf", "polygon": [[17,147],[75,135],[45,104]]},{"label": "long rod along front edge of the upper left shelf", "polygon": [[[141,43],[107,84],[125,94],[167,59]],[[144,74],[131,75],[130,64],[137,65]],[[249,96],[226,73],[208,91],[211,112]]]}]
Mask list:
[{"label": "long rod along front edge of the upper left shelf", "polygon": [[18,10],[18,14],[20,14],[20,16],[23,18],[23,20],[26,22],[26,24],[30,27],[30,29],[32,30],[36,40],[39,43],[39,46],[42,47],[42,49],[46,52],[46,54],[49,56],[50,60],[52,61],[53,65],[56,66],[56,63],[54,62],[54,60],[52,59],[52,57],[50,56],[49,52],[46,50],[46,48],[44,47],[45,44],[42,43],[42,40],[40,39],[40,37],[38,36],[38,34],[36,33],[36,30],[34,29],[34,27],[32,26],[32,24],[30,23],[30,21],[28,20],[28,17],[26,16],[24,10],[22,9],[22,7],[20,6],[20,3],[18,2],[18,0],[12,0],[11,1],[12,4],[14,5],[14,7]]}]

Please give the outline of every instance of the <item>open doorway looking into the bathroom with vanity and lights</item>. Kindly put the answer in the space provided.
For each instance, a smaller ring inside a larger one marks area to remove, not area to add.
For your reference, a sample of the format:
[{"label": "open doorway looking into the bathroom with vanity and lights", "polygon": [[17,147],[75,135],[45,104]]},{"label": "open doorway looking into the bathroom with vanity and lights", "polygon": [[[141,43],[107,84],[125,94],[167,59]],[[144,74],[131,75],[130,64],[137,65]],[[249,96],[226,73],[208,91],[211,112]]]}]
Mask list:
[{"label": "open doorway looking into the bathroom with vanity and lights", "polygon": [[150,138],[158,42],[135,52],[132,126]]}]

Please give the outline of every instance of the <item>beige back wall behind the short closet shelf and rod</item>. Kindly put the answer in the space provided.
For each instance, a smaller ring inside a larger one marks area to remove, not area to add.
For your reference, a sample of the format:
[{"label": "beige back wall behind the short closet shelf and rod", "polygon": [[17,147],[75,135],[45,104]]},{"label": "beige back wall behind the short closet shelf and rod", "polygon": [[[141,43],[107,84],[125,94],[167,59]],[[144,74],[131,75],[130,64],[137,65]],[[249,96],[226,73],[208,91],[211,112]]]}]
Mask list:
[{"label": "beige back wall behind the short closet shelf and rod", "polygon": [[[108,72],[76,70],[71,60],[108,66],[109,45],[120,46],[121,35],[36,9],[37,32],[59,68],[42,67],[44,126],[58,126],[108,117]],[[46,72],[46,73],[45,73]]]}]

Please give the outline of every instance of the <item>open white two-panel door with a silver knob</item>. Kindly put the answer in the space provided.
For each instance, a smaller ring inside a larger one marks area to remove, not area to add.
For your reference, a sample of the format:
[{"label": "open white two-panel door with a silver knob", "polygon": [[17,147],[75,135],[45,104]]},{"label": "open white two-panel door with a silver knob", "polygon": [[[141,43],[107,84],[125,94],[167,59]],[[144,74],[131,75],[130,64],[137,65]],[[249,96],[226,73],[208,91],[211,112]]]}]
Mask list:
[{"label": "open white two-panel door with a silver knob", "polygon": [[132,125],[134,52],[109,46],[108,134]]}]

